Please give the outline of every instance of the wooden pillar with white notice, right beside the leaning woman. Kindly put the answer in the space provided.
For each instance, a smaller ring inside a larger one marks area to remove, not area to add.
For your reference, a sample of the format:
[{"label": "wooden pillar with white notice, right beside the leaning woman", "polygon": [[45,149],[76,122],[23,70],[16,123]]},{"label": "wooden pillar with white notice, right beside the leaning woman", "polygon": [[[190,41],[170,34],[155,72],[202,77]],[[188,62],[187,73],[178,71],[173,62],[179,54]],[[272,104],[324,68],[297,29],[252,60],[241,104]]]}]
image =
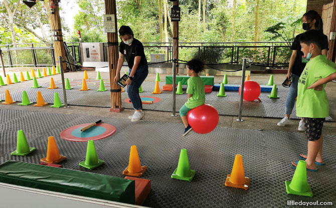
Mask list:
[{"label": "wooden pillar with white notice, right beside the leaning woman", "polygon": [[[113,82],[117,71],[119,59],[118,50],[118,34],[117,34],[117,9],[115,0],[105,0],[105,14],[114,15],[115,32],[107,33],[107,49],[108,49],[108,66],[110,73],[110,92],[111,92],[111,112],[121,112],[124,110],[121,107],[121,88]],[[120,76],[118,75],[120,78]]]}]

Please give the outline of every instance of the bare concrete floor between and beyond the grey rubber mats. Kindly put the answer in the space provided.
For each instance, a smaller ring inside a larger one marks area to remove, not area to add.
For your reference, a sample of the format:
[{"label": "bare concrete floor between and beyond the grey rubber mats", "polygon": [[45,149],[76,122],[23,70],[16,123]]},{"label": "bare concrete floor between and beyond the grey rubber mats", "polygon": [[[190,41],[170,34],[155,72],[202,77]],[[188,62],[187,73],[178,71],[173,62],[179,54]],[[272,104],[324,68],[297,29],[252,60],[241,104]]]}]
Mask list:
[{"label": "bare concrete floor between and beyond the grey rubber mats", "polygon": [[[40,69],[41,70],[41,69]],[[20,72],[12,72],[8,70],[7,74],[10,75],[13,82],[13,74],[16,73],[18,79],[20,80]],[[41,70],[42,72],[42,70]],[[36,72],[35,72],[36,73]],[[87,71],[89,78],[96,78],[96,72],[93,70]],[[3,73],[0,72],[0,75],[3,77],[4,82],[6,83],[6,78],[4,78]],[[36,73],[37,75],[37,73]],[[69,72],[65,73],[65,78],[81,80],[83,79],[83,71],[77,72]],[[24,73],[26,77],[26,73]],[[147,79],[148,81],[155,80],[155,74],[149,74]],[[250,79],[257,81],[261,85],[265,85],[268,82],[269,74],[251,74]],[[274,84],[281,85],[285,75],[284,74],[274,74]],[[54,80],[60,80],[61,75],[53,75]],[[101,73],[102,79],[109,79],[108,73]],[[160,79],[164,80],[165,75],[160,74]],[[215,83],[221,83],[223,80],[223,76],[215,76]],[[230,84],[240,84],[241,77],[238,76],[229,76],[228,80]],[[48,83],[50,82],[50,77],[44,77],[38,79],[39,83]],[[12,85],[1,86],[0,94],[5,93],[6,90],[14,91],[22,88],[30,87],[33,85],[32,81],[15,83]],[[336,114],[336,83],[328,83],[326,86],[326,92],[328,95],[329,103],[330,103],[330,113],[331,115]],[[97,101],[99,102],[99,101]],[[50,105],[48,105],[50,106]],[[112,113],[109,112],[108,108],[100,108],[100,107],[85,107],[85,106],[70,106],[69,108],[48,108],[48,107],[34,107],[30,106],[20,106],[16,104],[12,105],[0,105],[0,108],[4,109],[17,109],[17,110],[26,110],[26,111],[40,111],[40,112],[55,112],[61,114],[77,114],[77,115],[92,115],[92,116],[101,116],[101,117],[115,117],[115,118],[126,118],[128,115],[133,113],[133,110],[125,109],[120,113]],[[244,109],[243,109],[244,110]],[[178,115],[178,114],[177,114]],[[333,117],[336,120],[335,117]],[[163,122],[174,122],[181,123],[182,121],[180,116],[172,117],[172,113],[170,112],[159,112],[159,111],[145,111],[145,120],[152,121],[163,121]],[[229,128],[241,128],[241,129],[264,129],[264,130],[272,130],[272,131],[285,131],[285,132],[297,132],[298,120],[292,120],[291,123],[285,127],[277,126],[277,122],[280,119],[273,118],[258,118],[258,117],[243,117],[243,122],[237,121],[236,116],[220,116],[218,126],[221,127],[229,127]],[[183,126],[181,127],[183,129]],[[323,133],[327,135],[336,135],[336,122],[325,122],[323,126]],[[303,136],[303,135],[302,135]]]}]

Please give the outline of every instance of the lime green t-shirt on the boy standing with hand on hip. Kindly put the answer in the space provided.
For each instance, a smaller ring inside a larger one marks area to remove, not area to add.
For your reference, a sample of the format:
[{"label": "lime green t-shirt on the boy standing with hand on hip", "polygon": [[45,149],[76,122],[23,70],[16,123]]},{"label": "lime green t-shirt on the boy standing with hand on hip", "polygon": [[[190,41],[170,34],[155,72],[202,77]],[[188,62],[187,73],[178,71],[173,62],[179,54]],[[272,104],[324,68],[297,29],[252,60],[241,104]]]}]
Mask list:
[{"label": "lime green t-shirt on the boy standing with hand on hip", "polygon": [[329,102],[323,85],[321,91],[307,90],[319,79],[336,72],[335,64],[328,61],[325,55],[311,59],[305,66],[297,85],[296,116],[307,118],[326,118],[329,116]]}]

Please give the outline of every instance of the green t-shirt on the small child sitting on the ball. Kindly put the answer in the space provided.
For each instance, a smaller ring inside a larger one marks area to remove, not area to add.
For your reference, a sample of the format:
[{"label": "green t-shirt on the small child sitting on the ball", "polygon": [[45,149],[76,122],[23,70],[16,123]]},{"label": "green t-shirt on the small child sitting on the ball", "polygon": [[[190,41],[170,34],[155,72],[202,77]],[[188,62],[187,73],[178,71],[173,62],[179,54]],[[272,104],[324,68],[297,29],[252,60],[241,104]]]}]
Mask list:
[{"label": "green t-shirt on the small child sitting on the ball", "polygon": [[193,94],[186,102],[187,108],[196,108],[205,103],[204,82],[200,76],[188,79],[187,93]]}]

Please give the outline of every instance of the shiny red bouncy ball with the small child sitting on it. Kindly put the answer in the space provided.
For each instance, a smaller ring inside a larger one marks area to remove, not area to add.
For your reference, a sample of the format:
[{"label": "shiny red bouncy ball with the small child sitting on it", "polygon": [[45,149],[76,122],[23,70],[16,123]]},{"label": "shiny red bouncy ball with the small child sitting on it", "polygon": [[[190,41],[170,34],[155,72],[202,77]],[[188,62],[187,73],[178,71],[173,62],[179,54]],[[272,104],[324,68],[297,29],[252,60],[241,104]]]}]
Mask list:
[{"label": "shiny red bouncy ball with the small child sitting on it", "polygon": [[218,124],[219,116],[216,108],[204,104],[191,109],[187,114],[189,125],[199,134],[207,134]]}]

